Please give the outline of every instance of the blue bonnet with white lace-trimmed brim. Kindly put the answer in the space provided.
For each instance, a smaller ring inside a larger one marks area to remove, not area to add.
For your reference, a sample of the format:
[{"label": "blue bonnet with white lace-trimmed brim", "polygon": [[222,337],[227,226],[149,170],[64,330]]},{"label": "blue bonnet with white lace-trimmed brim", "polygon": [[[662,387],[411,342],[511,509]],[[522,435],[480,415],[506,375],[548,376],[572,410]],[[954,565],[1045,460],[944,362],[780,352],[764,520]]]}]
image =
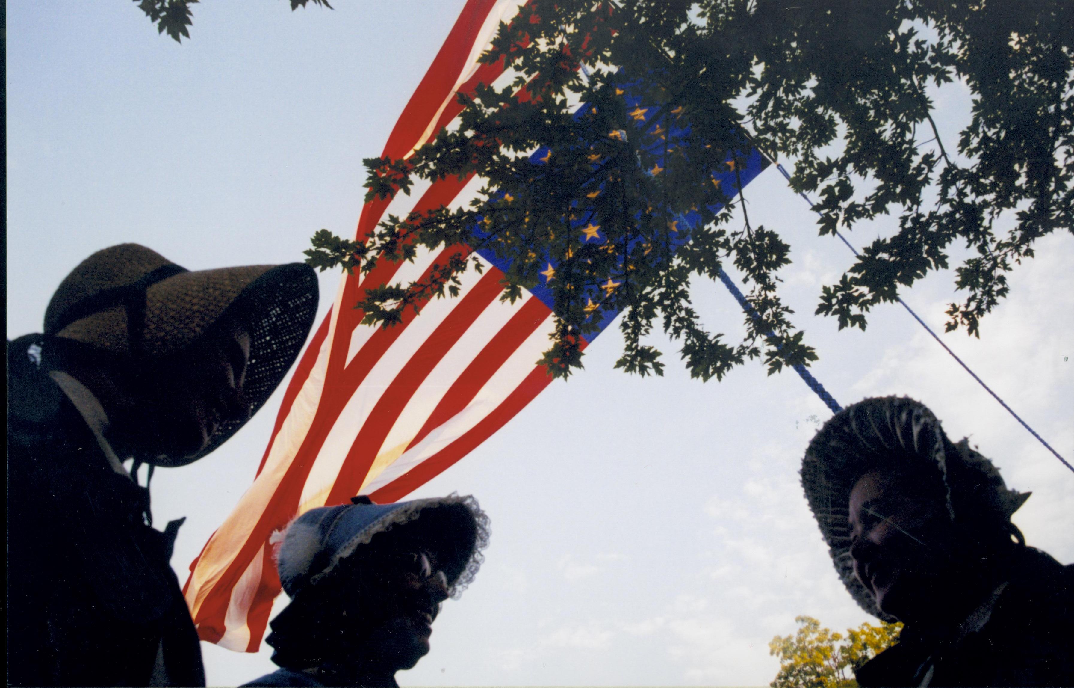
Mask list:
[{"label": "blue bonnet with white lace-trimmed brim", "polygon": [[276,568],[288,596],[316,587],[340,561],[361,557],[363,545],[374,536],[406,536],[427,547],[447,576],[452,598],[474,580],[490,533],[489,517],[473,497],[451,494],[391,504],[375,504],[366,497],[351,501],[311,508],[282,532]]}]

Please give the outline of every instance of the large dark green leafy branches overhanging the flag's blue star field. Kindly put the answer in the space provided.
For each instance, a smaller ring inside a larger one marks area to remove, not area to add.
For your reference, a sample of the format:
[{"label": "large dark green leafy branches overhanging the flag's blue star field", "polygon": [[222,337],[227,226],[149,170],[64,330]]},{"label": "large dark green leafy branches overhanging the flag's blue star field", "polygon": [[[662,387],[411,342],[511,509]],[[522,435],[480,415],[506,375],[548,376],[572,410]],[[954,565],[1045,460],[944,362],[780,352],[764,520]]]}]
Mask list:
[{"label": "large dark green leafy branches overhanging the flag's blue star field", "polygon": [[[897,231],[823,287],[818,314],[865,329],[873,306],[966,245],[971,257],[955,270],[966,298],[949,305],[947,329],[979,335],[1034,241],[1071,230],[1074,3],[797,4],[531,0],[482,58],[505,60],[513,81],[460,95],[458,128],[406,159],[365,161],[367,200],[470,173],[487,181],[477,200],[389,217],[361,243],[322,230],[309,262],[368,271],[419,247],[466,244],[511,260],[505,299],[551,288],[556,329],[541,362],[554,375],[581,364],[578,335],[604,311],[625,311],[616,366],[627,371],[661,374],[661,353],[643,343],[658,320],[694,376],[719,379],[759,356],[772,373],[816,358],[778,289],[789,247],[779,228],[732,227],[729,209],[744,214],[744,199],[713,183],[757,146],[794,161],[793,188],[819,199],[821,234],[898,216]],[[943,141],[926,89],[954,82],[970,90],[972,118]],[[532,162],[541,146],[549,154]],[[686,216],[696,221],[679,221]],[[674,250],[672,232],[690,243]],[[691,305],[697,278],[727,261],[760,315],[744,318],[737,343],[707,331]],[[470,267],[476,256],[462,254],[358,305],[366,322],[390,325],[456,292]]]}]

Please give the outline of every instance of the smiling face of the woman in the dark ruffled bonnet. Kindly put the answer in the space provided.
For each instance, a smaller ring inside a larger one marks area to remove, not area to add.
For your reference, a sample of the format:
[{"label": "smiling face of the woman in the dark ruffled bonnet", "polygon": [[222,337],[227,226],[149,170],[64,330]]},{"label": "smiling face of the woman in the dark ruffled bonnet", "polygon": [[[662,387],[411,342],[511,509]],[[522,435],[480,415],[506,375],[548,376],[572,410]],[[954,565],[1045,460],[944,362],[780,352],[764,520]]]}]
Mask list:
[{"label": "smiling face of the woman in the dark ruffled bonnet", "polygon": [[954,528],[943,496],[924,476],[873,471],[850,498],[854,574],[876,606],[900,621],[946,607],[957,585]]}]

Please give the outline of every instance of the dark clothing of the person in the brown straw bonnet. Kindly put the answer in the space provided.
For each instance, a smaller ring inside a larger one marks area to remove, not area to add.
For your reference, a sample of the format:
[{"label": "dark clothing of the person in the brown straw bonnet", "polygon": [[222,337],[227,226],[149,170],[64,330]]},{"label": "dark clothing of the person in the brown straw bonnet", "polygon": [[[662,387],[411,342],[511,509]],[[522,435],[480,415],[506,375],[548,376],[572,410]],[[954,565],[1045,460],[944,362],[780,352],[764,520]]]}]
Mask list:
[{"label": "dark clothing of the person in the brown straw bonnet", "polygon": [[8,344],[8,683],[204,686],[176,527],[146,525],[148,490],[112,469],[33,336]]}]

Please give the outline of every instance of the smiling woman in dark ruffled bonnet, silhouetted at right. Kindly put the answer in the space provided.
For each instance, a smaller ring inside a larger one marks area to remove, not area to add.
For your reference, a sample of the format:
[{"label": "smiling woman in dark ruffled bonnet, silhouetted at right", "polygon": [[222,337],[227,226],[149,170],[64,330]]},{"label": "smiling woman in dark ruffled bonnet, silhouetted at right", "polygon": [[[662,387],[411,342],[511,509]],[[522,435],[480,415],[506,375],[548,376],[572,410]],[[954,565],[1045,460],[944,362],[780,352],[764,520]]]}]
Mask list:
[{"label": "smiling woman in dark ruffled bonnet, silhouetted at right", "polygon": [[1027,547],[1029,493],[923,404],[867,399],[810,443],[802,486],[844,585],[904,628],[862,686],[1074,685],[1074,567]]}]

